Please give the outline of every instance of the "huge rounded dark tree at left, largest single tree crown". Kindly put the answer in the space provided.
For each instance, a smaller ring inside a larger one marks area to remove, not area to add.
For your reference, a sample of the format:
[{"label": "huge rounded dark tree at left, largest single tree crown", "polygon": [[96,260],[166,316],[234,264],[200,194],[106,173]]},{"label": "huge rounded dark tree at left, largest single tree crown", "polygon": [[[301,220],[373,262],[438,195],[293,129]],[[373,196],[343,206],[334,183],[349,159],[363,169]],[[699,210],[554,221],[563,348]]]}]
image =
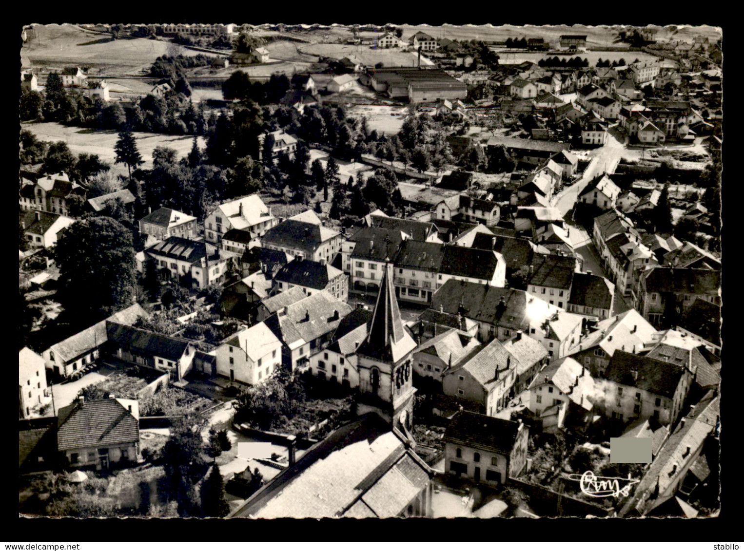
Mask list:
[{"label": "huge rounded dark tree at left, largest single tree crown", "polygon": [[100,320],[130,306],[135,290],[132,233],[121,222],[92,216],[66,228],[54,250],[60,302],[84,320]]}]

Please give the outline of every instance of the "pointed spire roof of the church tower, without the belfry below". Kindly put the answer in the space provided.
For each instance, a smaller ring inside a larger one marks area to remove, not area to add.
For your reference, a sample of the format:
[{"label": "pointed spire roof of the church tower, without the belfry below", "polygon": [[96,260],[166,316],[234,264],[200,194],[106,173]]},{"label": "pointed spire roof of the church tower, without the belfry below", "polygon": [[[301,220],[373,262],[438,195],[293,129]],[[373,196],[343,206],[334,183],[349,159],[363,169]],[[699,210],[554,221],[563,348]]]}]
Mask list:
[{"label": "pointed spire roof of the church tower, without the belfry below", "polygon": [[382,284],[374,306],[370,331],[358,352],[394,364],[415,347],[415,341],[403,329],[393,287],[393,266],[389,259],[385,259]]}]

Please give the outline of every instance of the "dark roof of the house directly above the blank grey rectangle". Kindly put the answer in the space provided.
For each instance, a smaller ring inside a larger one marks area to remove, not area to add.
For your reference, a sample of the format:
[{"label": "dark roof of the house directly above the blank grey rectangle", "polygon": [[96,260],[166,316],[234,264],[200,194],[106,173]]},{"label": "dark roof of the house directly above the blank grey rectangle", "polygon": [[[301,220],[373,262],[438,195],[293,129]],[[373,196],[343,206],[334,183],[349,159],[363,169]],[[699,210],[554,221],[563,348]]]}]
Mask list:
[{"label": "dark roof of the house directly above the blank grey rectangle", "polygon": [[[638,372],[633,379],[631,371]],[[604,378],[629,387],[647,390],[652,394],[672,398],[684,370],[666,361],[658,361],[648,356],[639,356],[615,350],[604,374]]]}]

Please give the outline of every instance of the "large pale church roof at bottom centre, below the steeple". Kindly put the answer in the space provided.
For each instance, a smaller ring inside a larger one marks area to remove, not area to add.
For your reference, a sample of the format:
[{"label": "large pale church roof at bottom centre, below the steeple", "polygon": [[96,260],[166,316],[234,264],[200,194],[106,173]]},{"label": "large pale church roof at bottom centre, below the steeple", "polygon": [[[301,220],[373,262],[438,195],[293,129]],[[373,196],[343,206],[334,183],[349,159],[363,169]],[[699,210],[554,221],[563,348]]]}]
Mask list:
[{"label": "large pale church roof at bottom centre, below the steeple", "polygon": [[376,413],[333,431],[231,517],[392,517],[432,471]]}]

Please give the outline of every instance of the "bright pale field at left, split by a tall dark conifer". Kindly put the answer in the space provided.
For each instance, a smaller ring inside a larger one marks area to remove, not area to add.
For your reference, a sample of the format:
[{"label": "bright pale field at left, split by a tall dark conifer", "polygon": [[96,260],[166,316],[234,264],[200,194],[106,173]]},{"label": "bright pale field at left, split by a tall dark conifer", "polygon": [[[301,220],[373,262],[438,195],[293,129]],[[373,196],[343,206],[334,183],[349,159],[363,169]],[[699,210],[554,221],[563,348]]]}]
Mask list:
[{"label": "bright pale field at left, split by a tall dark conifer", "polygon": [[[114,164],[116,154],[114,146],[118,140],[118,133],[115,130],[95,130],[89,128],[80,128],[80,126],[62,126],[60,123],[23,123],[22,129],[29,130],[36,135],[36,138],[43,141],[65,141],[70,147],[71,152],[79,155],[80,153],[94,153],[101,160]],[[188,155],[191,150],[193,136],[174,136],[167,134],[153,134],[150,132],[134,132],[144,165],[142,168],[150,169],[153,167],[153,149],[158,146],[176,149],[179,158]],[[199,147],[204,148],[206,142],[203,137],[199,137]],[[123,165],[118,165],[123,166]],[[112,167],[113,168],[113,167]],[[126,167],[124,167],[126,174]]]}]

